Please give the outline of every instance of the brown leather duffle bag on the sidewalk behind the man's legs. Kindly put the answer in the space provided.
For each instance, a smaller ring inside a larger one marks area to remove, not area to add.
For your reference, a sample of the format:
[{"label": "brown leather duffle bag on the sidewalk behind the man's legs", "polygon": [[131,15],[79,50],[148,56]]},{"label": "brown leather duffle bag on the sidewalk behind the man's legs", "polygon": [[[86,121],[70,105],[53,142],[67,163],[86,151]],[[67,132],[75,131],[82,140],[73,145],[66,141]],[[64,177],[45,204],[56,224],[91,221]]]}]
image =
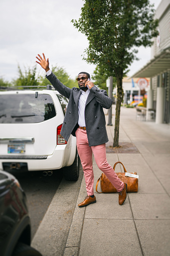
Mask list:
[{"label": "brown leather duffle bag on the sidewalk behind the man's legs", "polygon": [[[113,166],[113,169],[115,170],[115,167],[116,167],[116,164],[117,163],[121,163],[123,165],[122,162],[116,162]],[[118,178],[127,184],[127,192],[128,193],[131,193],[131,192],[137,192],[138,190],[138,179],[137,178],[132,178],[132,177],[126,177],[125,176],[125,173],[126,172],[126,169],[123,165],[123,168],[124,168],[124,173],[116,173]],[[128,174],[128,173],[127,173]],[[126,175],[127,175],[126,174]],[[130,173],[130,174],[134,174],[134,175],[137,175],[136,172],[134,173]],[[98,192],[97,191],[97,187],[98,187],[98,184],[99,184],[99,181],[100,181],[100,188],[101,188],[101,191],[102,192]],[[100,178],[98,179],[97,183],[96,183],[96,192],[98,193],[116,193],[117,190],[115,189],[115,187],[111,184],[111,182],[107,179],[106,175],[102,173],[102,175],[100,176]]]}]

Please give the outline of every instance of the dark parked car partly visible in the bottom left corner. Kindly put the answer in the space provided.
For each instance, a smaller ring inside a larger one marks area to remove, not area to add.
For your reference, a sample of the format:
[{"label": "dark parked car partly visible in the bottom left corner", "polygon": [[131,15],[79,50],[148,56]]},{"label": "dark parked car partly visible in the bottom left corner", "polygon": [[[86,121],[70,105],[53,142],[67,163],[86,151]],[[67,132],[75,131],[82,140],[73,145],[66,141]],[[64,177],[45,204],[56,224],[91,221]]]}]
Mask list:
[{"label": "dark parked car partly visible in the bottom left corner", "polygon": [[42,256],[30,244],[26,195],[13,175],[0,170],[0,255]]}]

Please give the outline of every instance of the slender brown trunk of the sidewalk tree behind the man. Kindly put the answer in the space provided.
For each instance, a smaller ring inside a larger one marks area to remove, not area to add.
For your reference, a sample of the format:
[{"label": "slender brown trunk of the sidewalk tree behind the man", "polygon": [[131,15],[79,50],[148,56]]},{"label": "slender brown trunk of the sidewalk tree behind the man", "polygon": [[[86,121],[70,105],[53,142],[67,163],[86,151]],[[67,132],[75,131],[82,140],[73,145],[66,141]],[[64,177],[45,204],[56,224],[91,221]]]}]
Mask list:
[{"label": "slender brown trunk of the sidewalk tree behind the man", "polygon": [[114,141],[113,147],[119,146],[119,122],[120,122],[120,106],[123,101],[123,88],[122,88],[122,77],[119,75],[116,77],[117,80],[117,101],[116,101],[116,116],[115,116],[115,127],[114,127]]}]

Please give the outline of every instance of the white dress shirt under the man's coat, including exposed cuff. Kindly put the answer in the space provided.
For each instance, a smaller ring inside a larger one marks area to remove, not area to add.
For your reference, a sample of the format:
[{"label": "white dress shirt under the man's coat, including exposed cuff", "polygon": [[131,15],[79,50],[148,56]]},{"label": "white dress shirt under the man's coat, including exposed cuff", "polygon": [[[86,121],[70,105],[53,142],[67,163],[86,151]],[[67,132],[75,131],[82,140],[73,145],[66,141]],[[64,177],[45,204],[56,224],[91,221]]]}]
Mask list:
[{"label": "white dress shirt under the man's coat, including exposed cuff", "polygon": [[[51,70],[46,72],[47,75],[50,75],[51,73],[52,73]],[[79,104],[78,104],[78,115],[79,115],[78,125],[86,126],[84,112],[85,112],[86,100],[90,93],[90,89],[88,89],[86,92],[82,90],[80,91],[81,91],[81,95],[80,95]]]}]

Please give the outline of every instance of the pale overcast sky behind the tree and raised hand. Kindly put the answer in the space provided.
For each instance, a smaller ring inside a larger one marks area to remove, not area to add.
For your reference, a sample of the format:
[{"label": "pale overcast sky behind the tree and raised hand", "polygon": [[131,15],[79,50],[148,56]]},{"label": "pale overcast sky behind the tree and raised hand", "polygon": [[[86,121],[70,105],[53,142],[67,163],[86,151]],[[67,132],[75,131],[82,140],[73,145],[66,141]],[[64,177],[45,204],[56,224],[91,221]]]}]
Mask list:
[{"label": "pale overcast sky behind the tree and raised hand", "polygon": [[[150,0],[158,7],[161,0]],[[82,60],[88,47],[86,37],[71,23],[78,19],[83,0],[5,0],[0,3],[0,78],[11,81],[18,77],[18,64],[25,67],[35,65],[38,53],[49,57],[50,66],[64,67],[71,78],[80,71],[93,73],[95,65]],[[141,47],[140,61],[135,61],[132,75],[150,59],[150,49]],[[37,64],[38,65],[38,64]],[[38,71],[45,71],[38,66]]]}]

